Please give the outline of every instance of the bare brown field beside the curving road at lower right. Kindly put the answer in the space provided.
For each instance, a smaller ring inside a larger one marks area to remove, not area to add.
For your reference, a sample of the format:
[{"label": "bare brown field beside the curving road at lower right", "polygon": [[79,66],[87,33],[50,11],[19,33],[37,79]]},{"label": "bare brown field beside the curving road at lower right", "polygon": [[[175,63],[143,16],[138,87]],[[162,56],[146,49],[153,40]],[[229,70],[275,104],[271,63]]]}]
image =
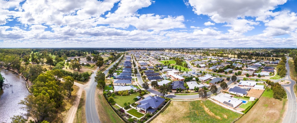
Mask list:
[{"label": "bare brown field beside the curving road at lower right", "polygon": [[252,109],[250,109],[249,112],[237,122],[281,122],[281,118],[285,112],[286,101],[287,99],[284,99],[283,101],[274,99],[272,90],[264,91]]}]

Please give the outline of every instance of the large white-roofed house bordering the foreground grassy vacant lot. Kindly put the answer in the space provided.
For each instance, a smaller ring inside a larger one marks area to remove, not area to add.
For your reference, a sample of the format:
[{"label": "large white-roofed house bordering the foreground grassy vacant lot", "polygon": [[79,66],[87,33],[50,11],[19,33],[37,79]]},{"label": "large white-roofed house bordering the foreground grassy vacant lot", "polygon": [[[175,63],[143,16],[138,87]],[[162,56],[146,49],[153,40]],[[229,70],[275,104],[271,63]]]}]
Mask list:
[{"label": "large white-roofed house bordering the foreground grassy vacant lot", "polygon": [[224,94],[221,96],[216,96],[216,97],[214,97],[214,101],[217,101],[220,104],[223,104],[223,105],[228,106],[229,108],[233,108],[233,109],[240,106],[240,104],[242,103],[241,100],[233,98],[231,94]]}]

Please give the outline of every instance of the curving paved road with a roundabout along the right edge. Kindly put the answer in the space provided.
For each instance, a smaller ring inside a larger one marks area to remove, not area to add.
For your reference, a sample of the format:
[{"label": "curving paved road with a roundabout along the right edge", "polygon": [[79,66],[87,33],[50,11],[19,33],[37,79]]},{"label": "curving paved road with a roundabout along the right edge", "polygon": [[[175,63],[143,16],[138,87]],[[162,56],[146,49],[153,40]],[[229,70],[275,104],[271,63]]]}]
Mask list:
[{"label": "curving paved road with a roundabout along the right edge", "polygon": [[297,102],[296,102],[296,95],[294,93],[294,88],[293,88],[296,82],[292,80],[290,77],[290,67],[289,67],[288,61],[289,61],[289,57],[287,57],[287,63],[286,63],[287,75],[285,76],[285,80],[291,81],[291,84],[282,85],[283,87],[290,88],[290,90],[285,88],[287,92],[288,106],[287,106],[287,112],[283,120],[283,123],[296,123],[297,122]]}]

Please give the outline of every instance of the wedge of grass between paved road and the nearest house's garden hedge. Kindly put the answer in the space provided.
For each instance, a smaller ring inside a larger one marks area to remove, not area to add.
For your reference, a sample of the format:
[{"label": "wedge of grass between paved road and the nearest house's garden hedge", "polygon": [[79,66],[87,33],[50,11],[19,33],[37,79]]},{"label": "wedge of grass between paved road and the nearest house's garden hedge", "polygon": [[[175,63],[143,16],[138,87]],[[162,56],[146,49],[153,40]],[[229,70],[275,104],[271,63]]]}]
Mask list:
[{"label": "wedge of grass between paved road and the nearest house's garden hedge", "polygon": [[124,121],[116,114],[103,96],[102,90],[97,89],[95,103],[100,122],[103,123],[124,123]]}]

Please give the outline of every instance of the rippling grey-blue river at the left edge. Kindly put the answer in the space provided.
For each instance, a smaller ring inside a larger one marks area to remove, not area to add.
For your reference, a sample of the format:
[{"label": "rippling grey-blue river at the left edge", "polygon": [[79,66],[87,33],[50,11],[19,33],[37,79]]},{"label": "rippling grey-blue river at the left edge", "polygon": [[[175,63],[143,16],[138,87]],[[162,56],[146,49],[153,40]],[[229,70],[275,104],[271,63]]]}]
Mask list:
[{"label": "rippling grey-blue river at the left edge", "polygon": [[0,122],[11,122],[10,117],[26,113],[21,107],[24,105],[18,104],[21,100],[29,95],[26,87],[26,81],[17,73],[0,68],[1,75],[5,78],[5,83],[10,83],[9,88],[2,88],[0,92]]}]

